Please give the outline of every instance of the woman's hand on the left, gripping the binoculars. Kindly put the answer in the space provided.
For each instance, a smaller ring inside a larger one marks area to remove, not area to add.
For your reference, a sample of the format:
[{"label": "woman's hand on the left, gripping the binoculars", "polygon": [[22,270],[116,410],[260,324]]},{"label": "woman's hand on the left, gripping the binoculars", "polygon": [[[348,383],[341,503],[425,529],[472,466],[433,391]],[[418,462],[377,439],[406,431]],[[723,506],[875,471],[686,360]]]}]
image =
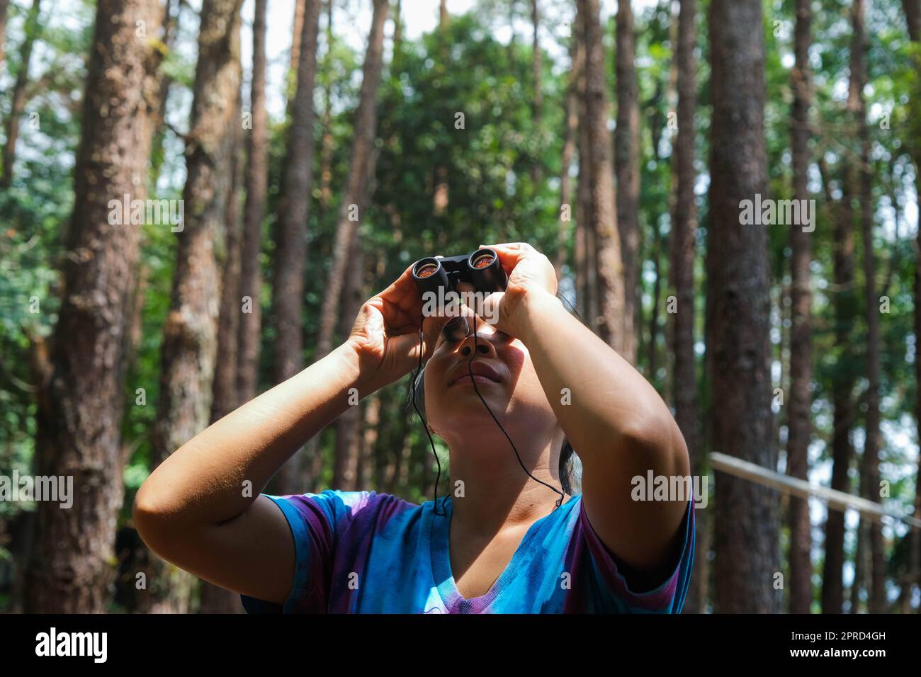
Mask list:
[{"label": "woman's hand on the left, gripping the binoculars", "polygon": [[417,367],[420,321],[424,334],[422,358],[431,356],[438,334],[449,318],[424,319],[422,309],[410,265],[391,286],[369,298],[358,311],[346,343],[358,356],[359,379],[366,384],[362,396],[402,379]]}]

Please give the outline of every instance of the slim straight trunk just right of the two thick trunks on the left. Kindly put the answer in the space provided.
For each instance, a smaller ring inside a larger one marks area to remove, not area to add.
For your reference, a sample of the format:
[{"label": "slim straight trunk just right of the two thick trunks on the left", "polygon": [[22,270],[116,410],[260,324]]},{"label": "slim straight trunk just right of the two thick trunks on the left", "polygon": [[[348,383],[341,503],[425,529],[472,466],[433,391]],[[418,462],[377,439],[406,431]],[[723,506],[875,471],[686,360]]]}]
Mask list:
[{"label": "slim straight trunk just right of the two thick trunks on the left", "polygon": [[265,12],[267,0],[256,0],[252,23],[252,129],[246,173],[246,221],[240,248],[237,302],[249,305],[240,314],[237,346],[237,399],[247,403],[256,396],[259,379],[259,340],[262,331],[262,218],[268,189],[268,115],[265,111]]}]

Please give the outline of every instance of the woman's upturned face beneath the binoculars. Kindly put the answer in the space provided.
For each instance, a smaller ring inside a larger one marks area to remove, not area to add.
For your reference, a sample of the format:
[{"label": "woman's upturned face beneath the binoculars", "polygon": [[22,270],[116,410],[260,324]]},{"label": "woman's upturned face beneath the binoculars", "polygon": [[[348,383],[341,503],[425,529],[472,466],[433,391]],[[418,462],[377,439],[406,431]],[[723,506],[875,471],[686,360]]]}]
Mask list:
[{"label": "woman's upturned face beneath the binoculars", "polygon": [[[439,336],[426,364],[426,414],[432,429],[449,443],[452,437],[473,432],[481,425],[498,430],[477,396],[479,391],[509,434],[512,430],[519,435],[554,430],[558,426],[556,414],[530,361],[528,348],[481,318],[476,318],[474,342],[473,318],[468,321],[470,335],[454,342]],[[474,351],[475,358],[469,365]]]}]

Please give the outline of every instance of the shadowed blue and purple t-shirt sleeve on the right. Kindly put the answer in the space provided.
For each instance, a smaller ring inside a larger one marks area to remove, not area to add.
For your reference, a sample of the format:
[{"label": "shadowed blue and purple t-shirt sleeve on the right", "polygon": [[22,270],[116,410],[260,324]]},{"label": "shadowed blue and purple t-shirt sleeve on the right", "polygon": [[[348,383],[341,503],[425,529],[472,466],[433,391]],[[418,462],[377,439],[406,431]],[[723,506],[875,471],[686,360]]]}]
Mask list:
[{"label": "shadowed blue and purple t-shirt sleeve on the right", "polygon": [[[579,531],[587,546],[592,563],[593,578],[600,588],[603,609],[617,613],[681,613],[694,568],[694,498],[685,508],[684,518],[678,528],[679,544],[671,557],[667,578],[659,585],[639,587],[635,575],[628,573],[616,554],[602,543],[589,522],[583,506],[579,505]],[[676,554],[677,551],[677,554]]]}]

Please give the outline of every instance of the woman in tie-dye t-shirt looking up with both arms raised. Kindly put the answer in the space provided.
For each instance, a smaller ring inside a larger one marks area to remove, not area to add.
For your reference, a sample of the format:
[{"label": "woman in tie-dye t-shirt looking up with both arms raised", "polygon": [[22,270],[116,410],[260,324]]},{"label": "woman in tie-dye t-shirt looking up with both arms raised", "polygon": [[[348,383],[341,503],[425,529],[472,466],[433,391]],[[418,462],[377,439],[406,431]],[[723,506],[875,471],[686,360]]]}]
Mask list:
[{"label": "woman in tie-dye t-shirt looking up with both arms raised", "polygon": [[[495,324],[474,318],[475,333],[446,341],[445,318],[423,317],[407,268],[365,303],[344,344],[150,475],[134,501],[145,542],[239,591],[249,612],[681,611],[691,500],[633,491],[650,471],[689,474],[678,426],[563,308],[545,256],[524,243],[489,247],[508,274],[480,309]],[[450,496],[416,506],[373,491],[258,494],[345,411],[352,389],[365,397],[401,379],[419,350],[428,426],[450,450]],[[565,440],[583,466],[576,496],[557,470]]]}]

